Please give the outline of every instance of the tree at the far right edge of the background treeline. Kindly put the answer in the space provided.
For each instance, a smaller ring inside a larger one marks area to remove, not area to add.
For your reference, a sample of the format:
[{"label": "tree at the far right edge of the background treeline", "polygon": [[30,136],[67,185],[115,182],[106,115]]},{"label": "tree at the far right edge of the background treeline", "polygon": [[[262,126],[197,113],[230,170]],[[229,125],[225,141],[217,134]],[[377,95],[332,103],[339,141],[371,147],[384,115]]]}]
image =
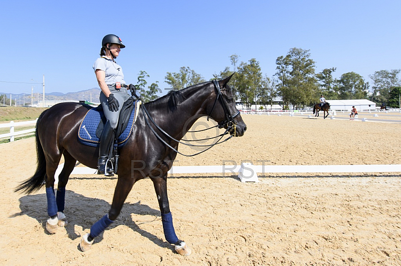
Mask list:
[{"label": "tree at the far right edge of the background treeline", "polygon": [[371,100],[376,103],[387,102],[390,97],[390,90],[394,86],[399,86],[398,74],[401,69],[379,70],[369,75],[373,80]]}]

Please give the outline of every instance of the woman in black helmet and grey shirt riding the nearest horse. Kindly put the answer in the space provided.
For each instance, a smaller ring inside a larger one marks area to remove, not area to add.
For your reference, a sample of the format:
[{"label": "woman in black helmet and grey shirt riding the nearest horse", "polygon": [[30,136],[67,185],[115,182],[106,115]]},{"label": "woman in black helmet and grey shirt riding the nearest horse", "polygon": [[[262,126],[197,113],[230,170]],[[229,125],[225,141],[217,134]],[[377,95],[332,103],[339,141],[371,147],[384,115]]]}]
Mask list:
[{"label": "woman in black helmet and grey shirt riding the nearest horse", "polygon": [[120,106],[129,98],[127,87],[124,81],[124,74],[121,66],[114,59],[120,53],[120,49],[125,45],[121,39],[114,34],[108,34],[103,37],[100,58],[97,58],[93,64],[97,82],[100,89],[100,103],[102,104],[104,115],[107,119],[104,124],[102,135],[100,136],[98,174],[107,176],[113,175],[113,169],[106,165],[109,157],[114,132],[117,127]]}]

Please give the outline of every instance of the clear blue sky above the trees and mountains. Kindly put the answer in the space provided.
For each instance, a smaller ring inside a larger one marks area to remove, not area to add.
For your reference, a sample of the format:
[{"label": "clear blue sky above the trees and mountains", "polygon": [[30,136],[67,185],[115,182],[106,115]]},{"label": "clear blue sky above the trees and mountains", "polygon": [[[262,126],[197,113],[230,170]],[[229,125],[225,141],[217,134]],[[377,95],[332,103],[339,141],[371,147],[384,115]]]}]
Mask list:
[{"label": "clear blue sky above the trees and mountains", "polygon": [[[126,48],[117,62],[127,83],[145,70],[148,84],[189,66],[206,79],[236,53],[276,72],[290,48],[309,49],[316,72],[337,67],[371,82],[374,71],[401,68],[399,0],[5,1],[0,15],[0,81],[42,82],[46,92],[98,87],[92,65],[104,35]],[[0,92],[42,92],[41,84],[0,82]]]}]

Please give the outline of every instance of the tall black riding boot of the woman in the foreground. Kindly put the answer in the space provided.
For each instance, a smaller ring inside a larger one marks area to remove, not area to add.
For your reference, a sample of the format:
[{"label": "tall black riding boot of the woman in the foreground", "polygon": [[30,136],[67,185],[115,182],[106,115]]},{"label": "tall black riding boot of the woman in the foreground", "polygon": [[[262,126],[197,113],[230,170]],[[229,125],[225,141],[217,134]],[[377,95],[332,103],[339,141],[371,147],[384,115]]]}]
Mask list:
[{"label": "tall black riding boot of the woman in the foreground", "polygon": [[104,174],[106,176],[114,175],[113,168],[111,167],[111,161],[109,161],[106,165],[106,161],[109,158],[111,146],[114,140],[114,132],[114,129],[110,125],[110,121],[107,120],[104,124],[102,135],[100,136],[99,159],[97,161],[98,174]]}]

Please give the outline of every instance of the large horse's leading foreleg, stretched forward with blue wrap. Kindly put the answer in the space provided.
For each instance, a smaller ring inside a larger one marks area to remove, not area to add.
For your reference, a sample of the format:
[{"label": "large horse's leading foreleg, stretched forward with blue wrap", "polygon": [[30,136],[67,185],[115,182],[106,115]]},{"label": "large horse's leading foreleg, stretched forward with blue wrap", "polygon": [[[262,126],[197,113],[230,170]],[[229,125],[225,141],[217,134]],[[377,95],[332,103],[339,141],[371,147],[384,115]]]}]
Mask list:
[{"label": "large horse's leading foreleg, stretched forward with blue wrap", "polygon": [[191,253],[191,249],[185,244],[184,241],[178,239],[172,223],[172,216],[167,197],[167,173],[162,177],[152,178],[152,181],[156,191],[157,200],[159,202],[164,237],[166,238],[167,242],[175,245],[175,251],[178,254],[188,256]]}]

